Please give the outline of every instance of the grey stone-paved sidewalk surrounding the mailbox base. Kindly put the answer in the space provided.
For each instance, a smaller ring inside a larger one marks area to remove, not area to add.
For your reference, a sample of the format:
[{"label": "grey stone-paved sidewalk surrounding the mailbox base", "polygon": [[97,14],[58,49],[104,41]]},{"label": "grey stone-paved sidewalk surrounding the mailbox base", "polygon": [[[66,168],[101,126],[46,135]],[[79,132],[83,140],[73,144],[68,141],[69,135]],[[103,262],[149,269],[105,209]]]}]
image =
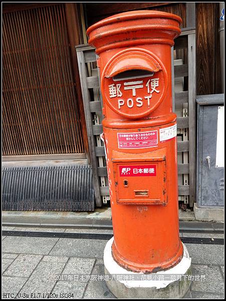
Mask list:
[{"label": "grey stone-paved sidewalk surrounding the mailbox base", "polygon": [[[3,227],[3,230],[112,234],[112,230],[100,229]],[[180,236],[223,238],[217,233],[181,233]],[[2,297],[12,298],[19,294],[21,298],[70,298],[69,293],[73,293],[72,298],[115,298],[105,281],[97,280],[98,275],[104,275],[102,258],[106,242],[101,239],[3,236]],[[187,243],[186,247],[192,258],[192,274],[204,275],[202,281],[193,281],[186,297],[223,298],[223,245]],[[59,279],[59,275],[81,274],[87,279]],[[93,275],[94,280],[87,275]],[[62,293],[66,295],[60,295]]]}]

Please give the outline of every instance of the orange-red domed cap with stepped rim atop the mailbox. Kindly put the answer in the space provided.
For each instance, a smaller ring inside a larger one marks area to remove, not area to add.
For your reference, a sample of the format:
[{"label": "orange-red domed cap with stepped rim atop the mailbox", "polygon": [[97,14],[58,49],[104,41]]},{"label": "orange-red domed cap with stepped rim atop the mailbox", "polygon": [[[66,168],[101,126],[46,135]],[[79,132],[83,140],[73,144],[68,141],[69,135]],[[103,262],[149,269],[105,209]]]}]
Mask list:
[{"label": "orange-red domed cap with stepped rim atop the mailbox", "polygon": [[89,44],[99,54],[112,48],[141,44],[173,45],[180,34],[179,16],[158,11],[133,11],[103,19],[87,30]]}]

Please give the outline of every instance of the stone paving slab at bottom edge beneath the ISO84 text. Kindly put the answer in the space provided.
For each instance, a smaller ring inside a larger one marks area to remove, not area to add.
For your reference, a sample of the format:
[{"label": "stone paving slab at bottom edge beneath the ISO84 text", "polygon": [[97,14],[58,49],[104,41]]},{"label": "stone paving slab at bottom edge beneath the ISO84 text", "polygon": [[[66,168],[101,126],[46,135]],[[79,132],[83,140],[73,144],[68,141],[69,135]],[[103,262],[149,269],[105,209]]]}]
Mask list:
[{"label": "stone paving slab at bottom edge beneath the ISO84 text", "polygon": [[52,293],[56,293],[58,297],[63,299],[67,298],[68,295],[62,296],[60,294],[73,293],[73,298],[82,298],[85,291],[87,282],[78,281],[57,281]]}]

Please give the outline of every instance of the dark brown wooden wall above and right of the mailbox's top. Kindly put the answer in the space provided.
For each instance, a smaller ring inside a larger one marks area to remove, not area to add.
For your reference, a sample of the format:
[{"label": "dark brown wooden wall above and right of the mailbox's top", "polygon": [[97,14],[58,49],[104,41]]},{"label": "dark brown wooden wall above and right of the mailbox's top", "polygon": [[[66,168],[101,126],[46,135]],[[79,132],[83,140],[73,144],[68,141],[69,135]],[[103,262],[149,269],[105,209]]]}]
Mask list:
[{"label": "dark brown wooden wall above and right of the mailbox's top", "polygon": [[113,14],[156,10],[178,15],[182,28],[196,28],[196,94],[221,93],[219,3],[87,3],[87,27]]}]

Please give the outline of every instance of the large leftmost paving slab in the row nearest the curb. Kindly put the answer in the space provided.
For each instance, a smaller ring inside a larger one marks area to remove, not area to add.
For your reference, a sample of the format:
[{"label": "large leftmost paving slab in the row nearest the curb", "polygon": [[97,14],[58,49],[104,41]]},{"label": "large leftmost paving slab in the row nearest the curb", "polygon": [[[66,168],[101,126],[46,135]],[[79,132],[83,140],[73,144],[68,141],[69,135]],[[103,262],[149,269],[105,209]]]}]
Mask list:
[{"label": "large leftmost paving slab in the row nearest the curb", "polygon": [[2,242],[5,253],[48,255],[59,238],[7,236]]}]

